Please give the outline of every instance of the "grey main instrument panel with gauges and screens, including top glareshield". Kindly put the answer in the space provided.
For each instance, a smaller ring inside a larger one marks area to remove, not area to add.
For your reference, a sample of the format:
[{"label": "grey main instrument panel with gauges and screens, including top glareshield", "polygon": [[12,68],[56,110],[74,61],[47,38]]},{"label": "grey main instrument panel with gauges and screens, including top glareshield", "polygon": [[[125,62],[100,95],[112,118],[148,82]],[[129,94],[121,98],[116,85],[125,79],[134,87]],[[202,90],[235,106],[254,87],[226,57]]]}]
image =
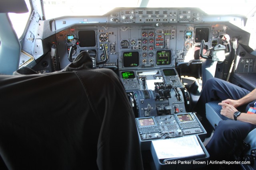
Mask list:
[{"label": "grey main instrument panel with gauges and screens, including top glareshield", "polygon": [[108,61],[95,67],[122,71],[200,63],[201,40],[207,48],[214,47],[219,35],[227,31],[222,23],[205,22],[209,16],[197,8],[121,8],[105,16],[71,19],[56,20],[56,28],[72,23],[56,34],[60,69],[70,63],[67,55],[74,37],[80,44],[73,58],[91,50],[96,61],[102,61],[105,56],[100,46],[105,44]]}]

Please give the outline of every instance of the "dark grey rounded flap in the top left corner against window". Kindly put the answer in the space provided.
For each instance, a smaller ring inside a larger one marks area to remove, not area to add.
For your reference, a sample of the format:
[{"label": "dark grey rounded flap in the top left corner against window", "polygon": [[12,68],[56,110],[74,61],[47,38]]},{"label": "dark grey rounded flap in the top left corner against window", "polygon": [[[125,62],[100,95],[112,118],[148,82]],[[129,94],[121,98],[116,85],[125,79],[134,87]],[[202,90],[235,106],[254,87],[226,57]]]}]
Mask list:
[{"label": "dark grey rounded flap in the top left corner against window", "polygon": [[24,0],[2,0],[0,5],[0,13],[26,13],[28,7]]}]

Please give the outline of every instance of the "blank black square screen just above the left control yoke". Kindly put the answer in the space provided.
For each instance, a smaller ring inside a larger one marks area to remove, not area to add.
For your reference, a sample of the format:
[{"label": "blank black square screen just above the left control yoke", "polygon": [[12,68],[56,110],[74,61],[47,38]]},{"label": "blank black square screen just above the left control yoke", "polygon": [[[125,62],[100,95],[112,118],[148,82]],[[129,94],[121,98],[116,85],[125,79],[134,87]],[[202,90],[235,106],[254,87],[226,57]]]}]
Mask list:
[{"label": "blank black square screen just above the left control yoke", "polygon": [[95,47],[96,36],[94,30],[82,30],[78,32],[80,47]]}]

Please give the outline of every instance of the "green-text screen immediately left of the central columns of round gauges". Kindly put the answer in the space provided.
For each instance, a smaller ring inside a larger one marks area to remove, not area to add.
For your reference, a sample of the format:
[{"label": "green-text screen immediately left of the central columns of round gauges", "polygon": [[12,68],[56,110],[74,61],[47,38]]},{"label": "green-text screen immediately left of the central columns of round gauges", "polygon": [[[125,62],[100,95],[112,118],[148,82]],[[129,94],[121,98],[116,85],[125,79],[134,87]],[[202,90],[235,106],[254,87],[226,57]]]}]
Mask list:
[{"label": "green-text screen immediately left of the central columns of round gauges", "polygon": [[124,67],[139,66],[139,53],[138,51],[124,52],[123,53]]}]

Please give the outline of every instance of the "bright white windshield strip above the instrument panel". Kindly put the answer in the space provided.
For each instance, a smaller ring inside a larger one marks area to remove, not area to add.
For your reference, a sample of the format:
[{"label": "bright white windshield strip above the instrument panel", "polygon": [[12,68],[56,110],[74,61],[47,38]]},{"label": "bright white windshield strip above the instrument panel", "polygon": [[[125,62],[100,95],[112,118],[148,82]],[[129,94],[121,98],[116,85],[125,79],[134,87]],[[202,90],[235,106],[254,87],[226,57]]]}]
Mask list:
[{"label": "bright white windshield strip above the instrument panel", "polygon": [[[61,16],[101,16],[118,7],[147,7],[147,8],[200,8],[207,14],[251,16],[255,10],[255,0],[225,0],[206,2],[197,0],[43,0],[46,19]],[[55,12],[52,12],[55,11]]]}]

